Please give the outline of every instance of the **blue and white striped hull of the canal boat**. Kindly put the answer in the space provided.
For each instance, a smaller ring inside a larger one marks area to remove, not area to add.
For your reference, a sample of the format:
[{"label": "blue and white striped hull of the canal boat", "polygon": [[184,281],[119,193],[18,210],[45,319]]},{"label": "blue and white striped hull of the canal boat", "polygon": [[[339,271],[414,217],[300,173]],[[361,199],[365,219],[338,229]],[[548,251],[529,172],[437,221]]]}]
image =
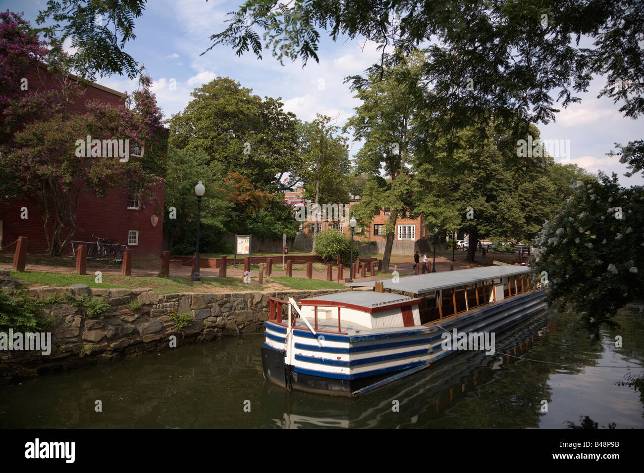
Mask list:
[{"label": "blue and white striped hull of the canal boat", "polygon": [[265,322],[262,348],[267,380],[301,391],[358,395],[428,367],[457,351],[442,349],[442,333],[497,332],[544,309],[544,291],[518,295],[440,326],[365,329],[357,335],[318,333]]}]

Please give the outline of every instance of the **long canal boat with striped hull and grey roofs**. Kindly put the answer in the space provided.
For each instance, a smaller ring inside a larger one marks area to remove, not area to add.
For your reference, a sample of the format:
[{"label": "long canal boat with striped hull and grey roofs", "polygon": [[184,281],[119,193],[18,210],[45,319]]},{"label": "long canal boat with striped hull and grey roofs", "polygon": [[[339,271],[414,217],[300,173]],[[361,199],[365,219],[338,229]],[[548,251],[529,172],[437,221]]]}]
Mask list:
[{"label": "long canal boat with striped hull and grey roofs", "polygon": [[545,307],[529,274],[527,266],[488,266],[347,283],[346,292],[299,302],[270,297],[264,378],[359,396],[459,350],[495,356],[495,333]]}]

